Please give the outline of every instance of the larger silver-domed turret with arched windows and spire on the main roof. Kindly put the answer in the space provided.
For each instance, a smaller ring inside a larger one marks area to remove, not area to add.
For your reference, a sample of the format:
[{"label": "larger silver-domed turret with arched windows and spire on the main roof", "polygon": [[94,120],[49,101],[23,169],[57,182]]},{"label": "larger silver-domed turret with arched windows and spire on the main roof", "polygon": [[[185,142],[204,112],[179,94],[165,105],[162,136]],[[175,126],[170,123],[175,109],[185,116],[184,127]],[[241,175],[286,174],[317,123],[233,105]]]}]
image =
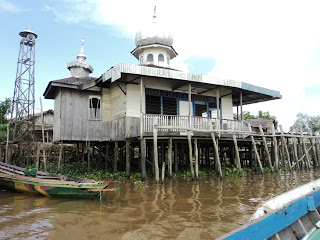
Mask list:
[{"label": "larger silver-domed turret with arched windows and spire on the main roof", "polygon": [[136,34],[136,49],[131,54],[141,65],[170,67],[170,60],[178,54],[172,47],[172,34],[157,22],[156,6],[153,20]]}]

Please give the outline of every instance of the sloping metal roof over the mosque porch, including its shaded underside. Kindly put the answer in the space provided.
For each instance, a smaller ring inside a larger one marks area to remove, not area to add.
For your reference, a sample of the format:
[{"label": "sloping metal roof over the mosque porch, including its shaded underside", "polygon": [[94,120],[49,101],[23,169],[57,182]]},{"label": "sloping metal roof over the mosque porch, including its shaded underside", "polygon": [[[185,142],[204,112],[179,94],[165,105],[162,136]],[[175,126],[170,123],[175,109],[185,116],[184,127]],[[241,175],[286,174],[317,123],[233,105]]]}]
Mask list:
[{"label": "sloping metal roof over the mosque porch, including its shaded underside", "polygon": [[102,81],[111,81],[112,83],[118,80],[123,80],[124,75],[133,75],[133,78],[131,79],[136,79],[137,82],[139,81],[139,76],[171,79],[176,85],[173,87],[173,90],[180,91],[187,90],[187,84],[192,83],[192,91],[197,94],[205,93],[210,89],[226,87],[232,90],[234,105],[237,105],[240,102],[240,92],[243,93],[243,104],[281,98],[279,91],[259,87],[245,82],[223,79],[216,76],[181,72],[168,68],[132,64],[118,64],[114,66],[102,75]]}]

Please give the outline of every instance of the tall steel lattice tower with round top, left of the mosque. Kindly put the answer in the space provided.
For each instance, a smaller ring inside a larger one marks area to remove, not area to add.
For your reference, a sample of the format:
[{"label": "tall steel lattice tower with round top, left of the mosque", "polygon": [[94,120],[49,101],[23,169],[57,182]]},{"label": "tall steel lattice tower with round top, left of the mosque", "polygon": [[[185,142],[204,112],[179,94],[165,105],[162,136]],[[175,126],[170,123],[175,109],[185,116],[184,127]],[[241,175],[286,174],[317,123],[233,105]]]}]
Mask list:
[{"label": "tall steel lattice tower with round top, left of the mosque", "polygon": [[19,33],[20,51],[17,64],[14,94],[12,100],[11,120],[13,123],[27,121],[30,129],[30,120],[34,114],[34,65],[35,43],[38,37],[30,30]]}]

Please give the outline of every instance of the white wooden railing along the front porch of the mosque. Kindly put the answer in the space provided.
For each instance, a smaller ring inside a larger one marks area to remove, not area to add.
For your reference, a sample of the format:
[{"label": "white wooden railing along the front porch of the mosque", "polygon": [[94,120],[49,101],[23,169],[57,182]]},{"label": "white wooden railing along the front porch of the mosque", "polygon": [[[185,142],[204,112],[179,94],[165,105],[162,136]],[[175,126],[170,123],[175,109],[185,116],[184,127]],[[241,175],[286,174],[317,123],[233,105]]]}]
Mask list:
[{"label": "white wooden railing along the front porch of the mosque", "polygon": [[[152,132],[154,122],[157,126],[168,127],[161,128],[159,131],[186,131],[184,129],[193,130],[224,130],[224,131],[250,131],[249,124],[245,121],[237,121],[232,119],[217,119],[207,117],[191,116],[189,123],[188,116],[176,115],[158,115],[158,114],[144,114],[143,115],[143,131]],[[177,127],[177,128],[174,128]]]}]

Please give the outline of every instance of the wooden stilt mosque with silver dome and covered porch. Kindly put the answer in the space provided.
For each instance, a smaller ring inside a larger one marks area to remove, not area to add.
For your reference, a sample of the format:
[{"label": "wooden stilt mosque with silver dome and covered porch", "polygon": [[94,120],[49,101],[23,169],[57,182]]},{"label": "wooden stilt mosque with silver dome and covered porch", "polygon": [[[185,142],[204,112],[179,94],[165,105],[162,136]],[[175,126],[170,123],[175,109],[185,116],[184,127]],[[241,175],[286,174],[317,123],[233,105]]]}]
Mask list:
[{"label": "wooden stilt mosque with silver dome and covered porch", "polygon": [[[241,117],[243,105],[281,98],[275,90],[172,69],[170,62],[178,56],[173,36],[157,22],[155,12],[135,43],[131,54],[136,65],[118,64],[94,78],[82,41],[77,60],[67,64],[71,77],[49,82],[43,94],[54,100],[53,140],[113,149],[114,171],[118,150],[124,148],[139,148],[142,178],[152,168],[158,180],[159,163],[167,162],[172,171],[189,158],[192,168],[195,148],[202,146],[205,157],[212,141],[219,138],[219,144],[231,146],[235,133],[250,130]],[[127,154],[123,165],[129,175],[133,159]]]}]

